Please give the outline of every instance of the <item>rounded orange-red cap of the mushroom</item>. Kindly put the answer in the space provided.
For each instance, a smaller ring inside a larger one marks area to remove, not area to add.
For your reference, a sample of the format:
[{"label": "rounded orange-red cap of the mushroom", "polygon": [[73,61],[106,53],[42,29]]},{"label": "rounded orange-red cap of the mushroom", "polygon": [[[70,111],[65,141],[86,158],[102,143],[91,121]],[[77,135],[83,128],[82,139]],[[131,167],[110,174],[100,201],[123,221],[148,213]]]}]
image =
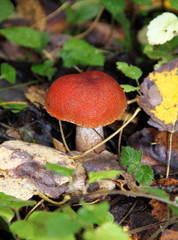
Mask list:
[{"label": "rounded orange-red cap of the mushroom", "polygon": [[114,78],[99,71],[58,78],[45,100],[45,108],[51,116],[91,128],[114,122],[126,107],[122,88]]}]

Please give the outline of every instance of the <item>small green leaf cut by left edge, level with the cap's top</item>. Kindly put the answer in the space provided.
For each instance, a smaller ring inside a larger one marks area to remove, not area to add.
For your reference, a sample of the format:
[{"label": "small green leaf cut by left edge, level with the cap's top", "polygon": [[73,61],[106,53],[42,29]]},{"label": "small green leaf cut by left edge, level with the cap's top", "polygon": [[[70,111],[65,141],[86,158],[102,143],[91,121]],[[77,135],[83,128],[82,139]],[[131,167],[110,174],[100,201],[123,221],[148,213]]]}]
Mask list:
[{"label": "small green leaf cut by left edge, level with the cap's top", "polygon": [[1,64],[1,76],[0,78],[6,79],[10,83],[15,83],[16,81],[16,70],[14,67],[8,63]]}]

